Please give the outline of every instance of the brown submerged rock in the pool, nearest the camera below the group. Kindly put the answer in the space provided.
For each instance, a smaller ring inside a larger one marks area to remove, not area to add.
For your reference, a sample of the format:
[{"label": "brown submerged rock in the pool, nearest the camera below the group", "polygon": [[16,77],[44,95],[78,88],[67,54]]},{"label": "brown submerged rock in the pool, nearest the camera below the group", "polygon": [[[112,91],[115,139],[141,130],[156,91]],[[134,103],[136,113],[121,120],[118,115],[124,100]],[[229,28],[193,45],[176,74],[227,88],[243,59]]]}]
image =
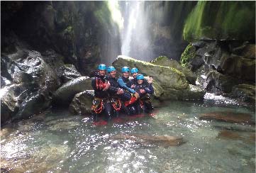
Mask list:
[{"label": "brown submerged rock in the pool, nearest the camera below the group", "polygon": [[158,145],[162,147],[179,146],[185,143],[183,138],[169,135],[141,135],[141,134],[120,134],[111,138],[112,140],[133,140],[144,145]]}]

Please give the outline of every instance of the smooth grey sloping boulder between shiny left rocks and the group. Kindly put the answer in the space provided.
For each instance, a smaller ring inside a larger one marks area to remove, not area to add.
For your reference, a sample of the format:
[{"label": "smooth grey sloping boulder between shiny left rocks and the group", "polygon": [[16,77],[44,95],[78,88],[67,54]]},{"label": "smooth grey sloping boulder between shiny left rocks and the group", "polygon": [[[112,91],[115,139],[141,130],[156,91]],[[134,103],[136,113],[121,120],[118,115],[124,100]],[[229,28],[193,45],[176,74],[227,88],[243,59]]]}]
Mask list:
[{"label": "smooth grey sloping boulder between shiny left rocks and the group", "polygon": [[71,79],[55,91],[52,103],[56,106],[68,106],[75,94],[91,89],[91,78],[78,77],[76,79]]}]

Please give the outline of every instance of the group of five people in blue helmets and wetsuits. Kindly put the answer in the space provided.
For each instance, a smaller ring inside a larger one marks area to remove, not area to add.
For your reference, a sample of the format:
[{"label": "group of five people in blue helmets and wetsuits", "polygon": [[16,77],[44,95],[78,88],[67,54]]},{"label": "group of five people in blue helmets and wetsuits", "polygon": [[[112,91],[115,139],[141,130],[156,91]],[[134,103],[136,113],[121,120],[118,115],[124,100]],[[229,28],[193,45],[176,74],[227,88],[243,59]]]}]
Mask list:
[{"label": "group of five people in blue helmets and wetsuits", "polygon": [[130,70],[129,67],[123,67],[121,73],[121,77],[117,78],[115,67],[106,67],[104,64],[98,66],[98,73],[91,80],[94,89],[91,106],[94,122],[99,121],[100,114],[104,114],[104,118],[109,121],[120,113],[132,116],[152,111],[152,79],[145,79],[137,68]]}]

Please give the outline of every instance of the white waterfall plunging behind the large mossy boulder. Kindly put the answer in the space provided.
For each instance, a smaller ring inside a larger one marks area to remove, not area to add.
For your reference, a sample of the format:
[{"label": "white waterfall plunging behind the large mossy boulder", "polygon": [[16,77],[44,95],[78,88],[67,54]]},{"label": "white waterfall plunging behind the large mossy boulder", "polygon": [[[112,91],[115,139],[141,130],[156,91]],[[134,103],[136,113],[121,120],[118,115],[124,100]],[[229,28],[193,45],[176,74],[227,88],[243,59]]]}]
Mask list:
[{"label": "white waterfall plunging behind the large mossy boulder", "polygon": [[144,1],[129,1],[124,7],[124,28],[121,30],[122,55],[150,60],[148,15]]}]

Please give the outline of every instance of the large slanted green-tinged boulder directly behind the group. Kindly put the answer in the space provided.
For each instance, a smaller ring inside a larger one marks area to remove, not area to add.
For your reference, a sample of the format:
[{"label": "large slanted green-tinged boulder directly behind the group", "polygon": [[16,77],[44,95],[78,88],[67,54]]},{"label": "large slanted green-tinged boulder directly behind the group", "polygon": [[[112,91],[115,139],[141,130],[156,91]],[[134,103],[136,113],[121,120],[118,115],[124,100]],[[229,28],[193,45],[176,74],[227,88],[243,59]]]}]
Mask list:
[{"label": "large slanted green-tinged boulder directly behind the group", "polygon": [[[154,80],[154,95],[157,97],[157,99],[194,99],[187,97],[189,94],[191,94],[191,88],[185,75],[178,69],[154,65],[150,62],[135,60],[131,57],[126,57],[123,55],[118,56],[118,58],[113,62],[113,66],[116,67],[118,71],[121,71],[123,66],[128,66],[130,68],[137,67],[140,73],[152,77]],[[198,99],[198,97],[196,97],[196,99]],[[203,97],[201,97],[201,99],[203,99]]]}]

